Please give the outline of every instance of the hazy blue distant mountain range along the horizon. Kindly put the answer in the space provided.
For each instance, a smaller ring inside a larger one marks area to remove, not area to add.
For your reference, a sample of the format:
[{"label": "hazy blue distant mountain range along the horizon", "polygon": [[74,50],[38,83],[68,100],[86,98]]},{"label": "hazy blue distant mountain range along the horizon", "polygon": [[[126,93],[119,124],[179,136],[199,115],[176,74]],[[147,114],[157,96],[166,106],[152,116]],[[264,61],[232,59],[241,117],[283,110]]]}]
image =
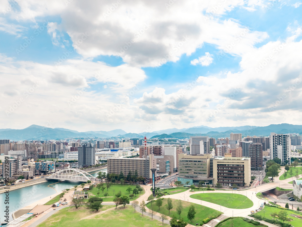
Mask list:
[{"label": "hazy blue distant mountain range along the horizon", "polygon": [[165,129],[151,133],[127,133],[124,130],[116,129],[111,131],[87,131],[78,132],[65,128],[48,128],[39,125],[31,125],[24,129],[0,129],[0,139],[18,140],[60,140],[66,138],[177,138],[184,139],[191,136],[209,136],[214,138],[229,137],[230,133],[242,133],[243,136],[268,136],[275,133],[300,133],[302,125],[292,124],[271,124],[265,127],[240,126],[240,127],[217,127],[198,126],[183,129]]}]

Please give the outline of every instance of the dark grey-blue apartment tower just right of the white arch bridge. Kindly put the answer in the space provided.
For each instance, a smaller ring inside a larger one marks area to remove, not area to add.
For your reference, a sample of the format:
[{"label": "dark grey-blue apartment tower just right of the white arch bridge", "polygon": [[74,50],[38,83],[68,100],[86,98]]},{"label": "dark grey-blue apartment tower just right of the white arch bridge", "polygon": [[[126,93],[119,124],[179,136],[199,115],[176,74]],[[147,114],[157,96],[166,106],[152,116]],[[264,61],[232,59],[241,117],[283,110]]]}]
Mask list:
[{"label": "dark grey-blue apartment tower just right of the white arch bridge", "polygon": [[95,147],[82,144],[78,148],[79,167],[95,165]]}]

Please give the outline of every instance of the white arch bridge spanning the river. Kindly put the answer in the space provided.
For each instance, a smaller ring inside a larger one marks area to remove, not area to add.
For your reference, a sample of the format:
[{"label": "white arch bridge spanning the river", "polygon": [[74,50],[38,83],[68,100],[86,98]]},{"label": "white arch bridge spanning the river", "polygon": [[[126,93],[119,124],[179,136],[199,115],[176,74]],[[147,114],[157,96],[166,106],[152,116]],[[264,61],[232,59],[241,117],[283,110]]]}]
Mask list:
[{"label": "white arch bridge spanning the river", "polygon": [[47,176],[46,179],[87,182],[88,180],[93,181],[96,178],[81,169],[62,169],[56,173],[51,174],[50,176]]}]

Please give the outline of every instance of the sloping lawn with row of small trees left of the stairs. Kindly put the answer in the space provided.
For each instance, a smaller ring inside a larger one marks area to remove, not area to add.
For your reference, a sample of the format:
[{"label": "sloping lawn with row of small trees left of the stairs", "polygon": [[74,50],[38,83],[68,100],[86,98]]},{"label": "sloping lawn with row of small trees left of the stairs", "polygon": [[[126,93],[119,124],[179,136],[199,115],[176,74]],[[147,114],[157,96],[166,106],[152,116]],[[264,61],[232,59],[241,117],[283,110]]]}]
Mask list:
[{"label": "sloping lawn with row of small trees left of the stairs", "polygon": [[[159,198],[159,199],[161,199],[161,198]],[[170,214],[169,214],[169,211],[165,207],[165,205],[167,204],[167,200],[168,200],[167,198],[164,198],[162,200],[162,206],[160,206],[159,210],[158,210],[158,206],[156,206],[155,202],[153,201],[152,202],[153,210],[155,210],[156,212],[159,212],[159,213],[163,213],[163,214],[165,214],[167,216],[170,216],[170,217],[175,216],[175,217],[179,218],[179,215],[176,212],[176,206],[177,206],[177,201],[178,200],[177,199],[172,199],[173,208],[170,210]],[[191,223],[189,221],[188,217],[187,217],[188,211],[189,211],[189,206],[191,204],[194,205],[195,211],[196,211],[195,219],[193,219],[193,223],[202,223],[202,220],[207,218],[207,217],[219,216],[220,214],[223,214],[223,212],[214,210],[212,208],[208,208],[206,206],[201,206],[199,204],[182,201],[183,210],[182,210],[182,213],[181,213],[180,217],[183,218],[184,221],[188,222],[188,223]],[[151,202],[149,202],[146,206],[149,209],[151,209]]]}]

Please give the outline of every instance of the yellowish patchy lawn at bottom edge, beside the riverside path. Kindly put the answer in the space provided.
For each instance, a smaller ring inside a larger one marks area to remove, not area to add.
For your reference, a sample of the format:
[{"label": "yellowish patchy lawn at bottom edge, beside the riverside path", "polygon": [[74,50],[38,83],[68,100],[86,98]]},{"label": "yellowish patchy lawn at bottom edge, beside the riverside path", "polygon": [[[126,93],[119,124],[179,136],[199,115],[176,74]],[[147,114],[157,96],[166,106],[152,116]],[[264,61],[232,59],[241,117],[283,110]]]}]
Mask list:
[{"label": "yellowish patchy lawn at bottom edge, beside the riverside path", "polygon": [[[104,206],[110,207],[110,206]],[[107,208],[108,209],[108,208]],[[100,211],[98,211],[100,212]],[[101,211],[102,212],[102,211]],[[39,227],[112,227],[112,226],[123,226],[123,227],[133,227],[133,226],[144,226],[144,227],[157,227],[157,226],[170,226],[163,224],[156,219],[151,220],[150,217],[146,215],[141,215],[139,212],[134,212],[132,206],[119,206],[117,209],[111,209],[105,211],[102,214],[97,214],[97,212],[92,212],[90,209],[80,207],[76,209],[75,207],[69,207],[66,209],[61,209],[55,214],[51,215],[44,222],[42,222]],[[82,219],[84,217],[91,216],[89,219]]]}]

